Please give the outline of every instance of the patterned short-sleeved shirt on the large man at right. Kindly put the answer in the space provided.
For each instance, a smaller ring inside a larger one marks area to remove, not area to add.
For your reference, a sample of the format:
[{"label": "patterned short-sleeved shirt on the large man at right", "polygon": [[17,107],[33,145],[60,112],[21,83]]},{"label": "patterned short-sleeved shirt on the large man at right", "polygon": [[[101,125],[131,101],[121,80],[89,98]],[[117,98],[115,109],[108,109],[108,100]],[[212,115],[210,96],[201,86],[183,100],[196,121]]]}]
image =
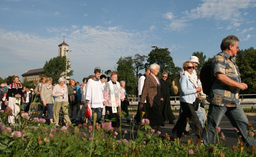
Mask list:
[{"label": "patterned short-sleeved shirt on the large man at right", "polygon": [[[223,51],[216,55],[212,60],[211,67],[212,75],[215,76],[217,72],[220,72],[234,81],[241,82],[239,69],[236,66],[236,59],[235,57],[232,58],[230,54]],[[222,82],[215,79],[207,101],[215,105],[237,107],[240,104],[239,88],[224,85]]]}]

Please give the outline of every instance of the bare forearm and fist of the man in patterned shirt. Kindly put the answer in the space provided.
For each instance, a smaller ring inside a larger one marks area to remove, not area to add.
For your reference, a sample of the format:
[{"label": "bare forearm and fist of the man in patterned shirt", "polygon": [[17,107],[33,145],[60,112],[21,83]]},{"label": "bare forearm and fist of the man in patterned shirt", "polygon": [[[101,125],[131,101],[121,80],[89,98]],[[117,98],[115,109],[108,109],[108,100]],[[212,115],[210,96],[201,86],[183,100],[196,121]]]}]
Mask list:
[{"label": "bare forearm and fist of the man in patterned shirt", "polygon": [[225,74],[222,74],[220,72],[216,72],[216,78],[219,81],[221,81],[224,85],[238,87],[239,89],[242,89],[242,90],[248,88],[247,84],[234,81],[234,80],[230,79],[228,76],[226,76]]}]

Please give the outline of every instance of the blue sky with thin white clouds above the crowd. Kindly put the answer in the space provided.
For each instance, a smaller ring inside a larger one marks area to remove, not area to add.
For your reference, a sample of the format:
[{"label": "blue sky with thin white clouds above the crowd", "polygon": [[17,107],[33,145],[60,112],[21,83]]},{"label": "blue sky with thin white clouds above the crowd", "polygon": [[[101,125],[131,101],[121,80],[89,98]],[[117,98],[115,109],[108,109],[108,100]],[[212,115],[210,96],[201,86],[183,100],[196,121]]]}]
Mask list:
[{"label": "blue sky with thin white clouds above the crowd", "polygon": [[[115,70],[123,56],[168,48],[175,66],[212,57],[233,34],[256,48],[256,0],[1,0],[1,78],[42,68],[65,42],[76,81]],[[142,72],[143,73],[143,72]]]}]

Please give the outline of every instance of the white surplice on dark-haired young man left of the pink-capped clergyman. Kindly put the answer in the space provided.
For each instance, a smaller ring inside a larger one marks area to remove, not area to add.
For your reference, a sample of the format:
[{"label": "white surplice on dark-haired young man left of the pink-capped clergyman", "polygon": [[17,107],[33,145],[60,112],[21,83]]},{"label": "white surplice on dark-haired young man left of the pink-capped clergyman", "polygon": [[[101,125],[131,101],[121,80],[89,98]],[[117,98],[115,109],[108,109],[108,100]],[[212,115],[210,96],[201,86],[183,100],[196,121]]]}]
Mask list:
[{"label": "white surplice on dark-haired young man left of the pink-capped clergyman", "polygon": [[101,89],[101,82],[89,79],[86,84],[84,102],[89,100],[91,108],[103,108],[103,93]]}]

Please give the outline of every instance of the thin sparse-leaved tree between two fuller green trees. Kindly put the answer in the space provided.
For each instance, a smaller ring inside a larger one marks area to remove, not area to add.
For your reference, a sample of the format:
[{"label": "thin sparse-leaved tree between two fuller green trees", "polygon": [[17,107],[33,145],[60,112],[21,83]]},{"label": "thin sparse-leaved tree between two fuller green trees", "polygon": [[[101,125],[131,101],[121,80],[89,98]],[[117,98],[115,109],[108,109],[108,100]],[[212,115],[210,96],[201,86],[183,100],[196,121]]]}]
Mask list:
[{"label": "thin sparse-leaved tree between two fuller green trees", "polygon": [[146,60],[146,55],[135,54],[133,58],[133,67],[134,67],[134,74],[136,78],[139,78],[141,75],[139,74],[140,70],[144,69],[144,63]]}]

